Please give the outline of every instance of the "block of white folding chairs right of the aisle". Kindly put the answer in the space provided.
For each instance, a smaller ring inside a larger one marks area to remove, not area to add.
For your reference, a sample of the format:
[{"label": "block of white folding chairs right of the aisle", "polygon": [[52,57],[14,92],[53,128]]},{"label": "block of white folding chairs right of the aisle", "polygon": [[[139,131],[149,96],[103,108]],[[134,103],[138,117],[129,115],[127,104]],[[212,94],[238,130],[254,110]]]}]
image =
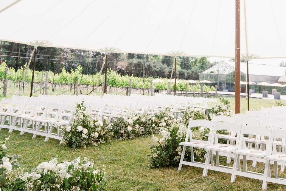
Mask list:
[{"label": "block of white folding chairs right of the aisle", "polygon": [[[208,128],[210,130],[208,140],[192,139],[191,129],[193,127]],[[229,135],[221,135],[217,133],[218,130],[227,130]],[[278,164],[281,165],[281,170],[282,168],[284,170],[286,162],[285,138],[285,121],[274,118],[257,119],[257,116],[251,115],[251,112],[236,114],[232,117],[214,116],[213,121],[190,119],[185,141],[180,143],[183,146],[183,151],[178,170],[180,171],[184,164],[203,168],[203,177],[207,176],[208,170],[215,170],[230,173],[231,182],[235,181],[237,175],[254,178],[263,181],[262,189],[267,188],[267,182],[286,185],[286,179],[278,177]],[[227,140],[226,144],[219,143],[219,139]],[[186,147],[191,148],[191,162],[184,161]],[[194,147],[204,148],[207,151],[205,163],[194,161]],[[278,151],[277,147],[280,147]],[[215,164],[213,155],[216,159]],[[228,163],[230,158],[234,158],[233,167],[220,165],[220,156],[226,156]],[[243,159],[243,171],[241,171],[240,159]],[[247,170],[247,160],[252,160],[254,167],[257,161],[264,162],[264,173]],[[270,176],[270,161],[274,164],[275,178]]]}]

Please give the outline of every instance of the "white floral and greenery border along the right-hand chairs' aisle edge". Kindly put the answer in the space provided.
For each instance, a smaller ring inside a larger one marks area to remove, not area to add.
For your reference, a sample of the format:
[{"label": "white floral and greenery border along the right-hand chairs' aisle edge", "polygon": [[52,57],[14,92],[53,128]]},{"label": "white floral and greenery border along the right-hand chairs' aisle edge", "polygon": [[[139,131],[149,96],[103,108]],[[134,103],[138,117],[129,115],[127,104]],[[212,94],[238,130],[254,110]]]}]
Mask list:
[{"label": "white floral and greenery border along the right-hand chairs' aisle edge", "polygon": [[[187,126],[189,119],[207,119],[211,120],[212,116],[215,115],[232,115],[230,109],[230,102],[223,97],[219,97],[219,105],[213,107],[208,115],[204,111],[196,108],[188,107],[186,111],[183,111],[181,119],[173,121],[169,126],[161,127],[159,134],[162,136],[160,140],[153,136],[153,145],[151,146],[151,154],[148,155],[148,166],[149,167],[161,167],[161,166],[178,166],[182,147],[179,145],[180,142],[184,142],[187,132]],[[197,140],[207,140],[206,133],[208,130],[204,127],[192,128],[193,138]],[[227,132],[220,132],[226,134]],[[205,150],[200,148],[194,148],[194,157],[196,161],[202,161],[205,155]],[[191,160],[190,148],[186,148],[184,161]]]}]

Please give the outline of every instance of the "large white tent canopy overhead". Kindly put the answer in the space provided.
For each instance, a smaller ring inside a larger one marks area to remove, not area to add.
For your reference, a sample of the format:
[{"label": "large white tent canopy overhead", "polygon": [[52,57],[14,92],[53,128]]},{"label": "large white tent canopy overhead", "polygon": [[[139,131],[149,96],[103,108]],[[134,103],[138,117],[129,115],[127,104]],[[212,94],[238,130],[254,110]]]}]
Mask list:
[{"label": "large white tent canopy overhead", "polygon": [[[1,0],[0,40],[111,52],[234,58],[234,0]],[[241,1],[240,49],[285,58],[285,0]],[[246,24],[245,19],[246,18]],[[246,26],[246,28],[245,28]],[[247,36],[245,35],[247,31]]]}]

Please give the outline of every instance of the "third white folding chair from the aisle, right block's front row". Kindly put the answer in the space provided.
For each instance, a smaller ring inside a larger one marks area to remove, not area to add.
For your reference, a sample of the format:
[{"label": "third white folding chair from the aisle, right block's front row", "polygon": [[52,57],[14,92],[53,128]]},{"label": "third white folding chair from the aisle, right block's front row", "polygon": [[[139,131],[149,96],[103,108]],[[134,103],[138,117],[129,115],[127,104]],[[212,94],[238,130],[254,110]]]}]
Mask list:
[{"label": "third white folding chair from the aisle, right block's front row", "polygon": [[[238,148],[234,153],[234,164],[231,173],[231,183],[235,181],[237,175],[248,178],[263,180],[263,174],[247,170],[246,157],[264,158],[268,154],[269,141],[266,143],[266,150],[260,151],[246,147],[244,134],[261,134],[271,137],[272,128],[262,127],[258,125],[243,125],[238,141]],[[243,156],[243,171],[240,169],[240,156]]]}]

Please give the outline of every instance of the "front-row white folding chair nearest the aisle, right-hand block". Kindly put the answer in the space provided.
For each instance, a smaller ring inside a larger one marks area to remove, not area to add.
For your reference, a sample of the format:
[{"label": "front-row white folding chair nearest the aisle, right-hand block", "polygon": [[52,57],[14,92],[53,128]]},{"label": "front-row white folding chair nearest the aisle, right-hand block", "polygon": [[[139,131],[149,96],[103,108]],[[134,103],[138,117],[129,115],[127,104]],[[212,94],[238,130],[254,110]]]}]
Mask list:
[{"label": "front-row white folding chair nearest the aisle, right-hand block", "polygon": [[[204,163],[201,162],[197,162],[194,160],[194,147],[197,148],[205,148],[207,146],[209,146],[210,142],[209,141],[202,141],[202,140],[196,140],[192,138],[192,130],[191,128],[193,127],[205,127],[208,128],[210,130],[210,132],[212,132],[213,128],[214,128],[214,122],[211,121],[207,121],[207,120],[189,120],[189,125],[188,125],[188,130],[186,133],[186,138],[184,142],[179,143],[179,145],[183,145],[183,151],[182,151],[182,155],[181,155],[181,160],[180,160],[180,164],[179,164],[179,168],[178,171],[181,170],[182,165],[189,165],[189,166],[193,166],[193,167],[200,167],[203,168],[204,167]],[[186,152],[186,147],[190,147],[191,149],[191,162],[187,162],[184,161],[184,157],[185,157],[185,152]],[[213,165],[213,161],[211,161],[212,165]]]}]

